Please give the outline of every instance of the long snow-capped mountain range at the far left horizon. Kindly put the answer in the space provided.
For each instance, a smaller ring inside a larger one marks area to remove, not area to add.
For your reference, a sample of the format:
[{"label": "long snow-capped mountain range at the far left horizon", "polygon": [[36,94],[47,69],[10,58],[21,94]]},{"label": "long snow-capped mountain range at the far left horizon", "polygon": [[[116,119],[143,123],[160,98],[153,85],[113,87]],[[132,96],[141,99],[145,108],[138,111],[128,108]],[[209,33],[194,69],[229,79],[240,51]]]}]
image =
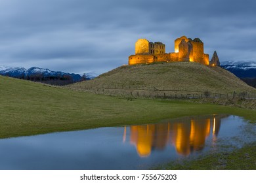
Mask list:
[{"label": "long snow-capped mountain range at the far left horizon", "polygon": [[73,82],[78,82],[81,80],[81,76],[78,74],[70,74],[64,73],[60,71],[51,71],[49,69],[42,69],[39,67],[31,67],[30,69],[25,69],[24,67],[7,67],[7,66],[0,66],[0,75],[3,76],[11,76],[14,78],[26,78],[31,76],[43,76],[47,77],[63,77],[63,76],[70,76]]}]

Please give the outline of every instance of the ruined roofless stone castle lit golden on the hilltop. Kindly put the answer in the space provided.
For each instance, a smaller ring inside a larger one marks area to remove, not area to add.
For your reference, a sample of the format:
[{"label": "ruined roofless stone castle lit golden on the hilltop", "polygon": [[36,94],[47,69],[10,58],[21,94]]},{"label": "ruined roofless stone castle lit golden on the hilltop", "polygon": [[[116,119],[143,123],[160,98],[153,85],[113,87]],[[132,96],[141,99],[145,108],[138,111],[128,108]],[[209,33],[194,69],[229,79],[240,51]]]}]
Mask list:
[{"label": "ruined roofless stone castle lit golden on the hilltop", "polygon": [[[219,61],[217,53],[213,54],[213,57]],[[138,39],[135,43],[135,55],[129,56],[129,65],[157,61],[194,61],[209,65],[209,55],[203,52],[203,42],[199,38],[192,40],[182,36],[176,39],[174,53],[165,53],[165,44],[161,42],[153,43],[146,39]]]}]

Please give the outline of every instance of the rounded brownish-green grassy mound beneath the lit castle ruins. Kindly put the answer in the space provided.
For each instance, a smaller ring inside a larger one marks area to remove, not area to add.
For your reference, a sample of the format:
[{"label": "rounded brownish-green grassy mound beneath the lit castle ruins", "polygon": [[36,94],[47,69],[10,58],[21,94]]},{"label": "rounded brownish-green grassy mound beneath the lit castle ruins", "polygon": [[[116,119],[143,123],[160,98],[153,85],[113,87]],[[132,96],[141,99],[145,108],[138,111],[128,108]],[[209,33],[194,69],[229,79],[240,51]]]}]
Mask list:
[{"label": "rounded brownish-green grassy mound beneath the lit castle ruins", "polygon": [[[170,62],[148,65],[125,65],[97,78],[68,86],[95,93],[154,95],[212,93],[256,93],[255,88],[221,67],[194,62]],[[105,90],[102,90],[105,88]],[[112,90],[108,90],[112,89]],[[113,90],[115,89],[115,90]],[[131,90],[130,90],[131,89]],[[143,93],[142,93],[143,91]],[[160,92],[161,91],[161,92]],[[155,93],[156,94],[156,93]]]}]

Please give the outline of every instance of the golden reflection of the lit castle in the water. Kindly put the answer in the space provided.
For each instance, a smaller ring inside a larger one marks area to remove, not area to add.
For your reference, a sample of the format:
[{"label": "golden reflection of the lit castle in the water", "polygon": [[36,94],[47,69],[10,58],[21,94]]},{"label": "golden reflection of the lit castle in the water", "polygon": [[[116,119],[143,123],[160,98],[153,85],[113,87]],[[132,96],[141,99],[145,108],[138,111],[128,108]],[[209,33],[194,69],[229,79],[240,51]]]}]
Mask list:
[{"label": "golden reflection of the lit castle in the water", "polygon": [[[162,124],[132,125],[130,142],[136,146],[141,157],[149,156],[152,150],[164,149],[168,143],[175,146],[178,154],[186,156],[195,150],[202,150],[210,133],[213,138],[217,137],[221,118],[224,117],[226,115],[182,119]],[[124,137],[125,141],[126,127]]]}]

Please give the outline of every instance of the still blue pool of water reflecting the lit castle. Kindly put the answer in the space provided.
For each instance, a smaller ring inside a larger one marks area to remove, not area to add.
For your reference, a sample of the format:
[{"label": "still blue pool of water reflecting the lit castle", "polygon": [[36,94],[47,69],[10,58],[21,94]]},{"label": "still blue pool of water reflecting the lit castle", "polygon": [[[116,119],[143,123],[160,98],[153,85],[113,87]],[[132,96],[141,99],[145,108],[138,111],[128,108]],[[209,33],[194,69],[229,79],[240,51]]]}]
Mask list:
[{"label": "still blue pool of water reflecting the lit castle", "polygon": [[148,169],[241,147],[256,127],[239,116],[192,116],[0,140],[0,169]]}]

